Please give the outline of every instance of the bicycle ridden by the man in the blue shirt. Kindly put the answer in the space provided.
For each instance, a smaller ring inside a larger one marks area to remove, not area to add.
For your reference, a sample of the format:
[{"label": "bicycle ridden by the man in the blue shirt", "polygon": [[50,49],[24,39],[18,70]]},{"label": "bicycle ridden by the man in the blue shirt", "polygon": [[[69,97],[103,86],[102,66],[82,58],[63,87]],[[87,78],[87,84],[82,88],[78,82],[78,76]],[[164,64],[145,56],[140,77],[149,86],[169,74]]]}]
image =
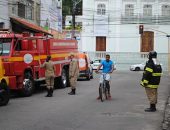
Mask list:
[{"label": "bicycle ridden by the man in the blue shirt", "polygon": [[99,85],[99,97],[101,102],[104,101],[104,97],[108,100],[109,97],[109,89],[108,89],[108,81],[106,80],[106,76],[108,73],[101,73],[102,74],[102,83]]}]

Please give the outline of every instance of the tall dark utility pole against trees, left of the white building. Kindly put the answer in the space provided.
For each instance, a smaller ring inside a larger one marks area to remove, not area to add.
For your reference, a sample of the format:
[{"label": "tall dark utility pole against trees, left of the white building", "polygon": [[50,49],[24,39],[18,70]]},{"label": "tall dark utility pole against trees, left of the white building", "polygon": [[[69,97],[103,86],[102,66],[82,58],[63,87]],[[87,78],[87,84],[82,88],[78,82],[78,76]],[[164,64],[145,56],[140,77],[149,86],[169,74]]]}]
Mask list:
[{"label": "tall dark utility pole against trees, left of the white building", "polygon": [[75,21],[75,15],[76,15],[76,6],[78,3],[80,3],[82,0],[72,0],[73,2],[73,10],[72,10],[72,38],[75,38],[75,29],[76,29],[76,21]]}]

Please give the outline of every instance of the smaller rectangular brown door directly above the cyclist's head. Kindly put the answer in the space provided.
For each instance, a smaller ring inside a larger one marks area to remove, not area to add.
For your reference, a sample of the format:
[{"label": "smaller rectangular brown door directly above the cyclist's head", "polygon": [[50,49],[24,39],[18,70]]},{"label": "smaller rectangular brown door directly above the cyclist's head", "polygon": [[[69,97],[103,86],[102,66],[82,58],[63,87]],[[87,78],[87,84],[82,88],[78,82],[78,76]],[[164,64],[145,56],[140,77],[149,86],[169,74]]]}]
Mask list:
[{"label": "smaller rectangular brown door directly above the cyclist's head", "polygon": [[106,37],[96,37],[96,51],[106,51]]}]

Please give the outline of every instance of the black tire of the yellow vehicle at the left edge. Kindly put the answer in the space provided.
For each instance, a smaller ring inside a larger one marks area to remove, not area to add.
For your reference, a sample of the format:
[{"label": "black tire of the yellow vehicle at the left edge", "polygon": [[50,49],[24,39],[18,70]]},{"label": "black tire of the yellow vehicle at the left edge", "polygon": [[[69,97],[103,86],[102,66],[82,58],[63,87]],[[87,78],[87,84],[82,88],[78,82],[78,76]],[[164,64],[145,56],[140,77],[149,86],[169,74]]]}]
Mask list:
[{"label": "black tire of the yellow vehicle at the left edge", "polygon": [[0,84],[0,106],[7,105],[10,99],[10,92],[6,82]]}]

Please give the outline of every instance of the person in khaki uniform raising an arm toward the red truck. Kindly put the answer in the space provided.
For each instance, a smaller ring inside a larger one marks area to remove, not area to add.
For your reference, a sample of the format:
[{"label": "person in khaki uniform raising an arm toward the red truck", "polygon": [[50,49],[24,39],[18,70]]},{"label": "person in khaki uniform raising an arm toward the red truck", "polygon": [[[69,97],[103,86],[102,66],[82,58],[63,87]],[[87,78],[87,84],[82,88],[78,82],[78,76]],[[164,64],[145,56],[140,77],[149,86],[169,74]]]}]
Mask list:
[{"label": "person in khaki uniform raising an arm toward the red truck", "polygon": [[41,65],[41,67],[45,68],[45,80],[47,84],[46,97],[52,97],[53,88],[54,88],[54,78],[55,78],[55,66],[51,61],[50,55],[47,56],[46,61]]}]

